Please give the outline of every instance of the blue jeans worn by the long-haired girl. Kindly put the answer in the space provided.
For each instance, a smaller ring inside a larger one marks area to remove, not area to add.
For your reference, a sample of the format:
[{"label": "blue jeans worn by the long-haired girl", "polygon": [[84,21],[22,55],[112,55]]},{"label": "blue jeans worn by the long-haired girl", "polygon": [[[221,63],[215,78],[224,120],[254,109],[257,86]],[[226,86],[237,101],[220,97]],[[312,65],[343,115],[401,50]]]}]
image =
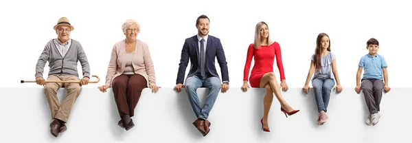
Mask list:
[{"label": "blue jeans worn by the long-haired girl", "polygon": [[334,87],[334,84],[334,80],[331,78],[314,78],[312,80],[314,98],[319,112],[327,111],[330,91]]}]

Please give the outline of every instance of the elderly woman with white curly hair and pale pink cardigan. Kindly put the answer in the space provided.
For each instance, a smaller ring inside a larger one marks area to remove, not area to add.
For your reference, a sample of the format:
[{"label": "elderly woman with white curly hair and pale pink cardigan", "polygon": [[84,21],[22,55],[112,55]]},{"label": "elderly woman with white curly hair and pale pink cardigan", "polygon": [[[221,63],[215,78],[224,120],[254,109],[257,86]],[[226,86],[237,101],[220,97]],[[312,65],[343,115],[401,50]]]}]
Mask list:
[{"label": "elderly woman with white curly hair and pale pink cardigan", "polygon": [[135,124],[131,117],[145,87],[157,92],[155,67],[150,57],[148,45],[136,39],[140,25],[132,19],[122,25],[126,39],[115,43],[108,64],[106,84],[98,87],[102,92],[113,87],[113,94],[119,111],[118,125],[128,131]]}]

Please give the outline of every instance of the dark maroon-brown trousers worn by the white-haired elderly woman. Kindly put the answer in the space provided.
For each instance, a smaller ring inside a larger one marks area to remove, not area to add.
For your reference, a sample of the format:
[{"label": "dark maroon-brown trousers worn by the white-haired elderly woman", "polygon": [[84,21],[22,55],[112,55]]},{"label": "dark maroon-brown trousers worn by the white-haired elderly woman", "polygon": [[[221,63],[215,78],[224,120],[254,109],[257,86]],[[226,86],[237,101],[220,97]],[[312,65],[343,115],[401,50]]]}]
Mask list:
[{"label": "dark maroon-brown trousers worn by the white-haired elderly woman", "polygon": [[135,107],[141,95],[141,91],[147,86],[147,81],[140,74],[122,74],[113,80],[113,94],[120,118],[123,115],[135,115]]}]

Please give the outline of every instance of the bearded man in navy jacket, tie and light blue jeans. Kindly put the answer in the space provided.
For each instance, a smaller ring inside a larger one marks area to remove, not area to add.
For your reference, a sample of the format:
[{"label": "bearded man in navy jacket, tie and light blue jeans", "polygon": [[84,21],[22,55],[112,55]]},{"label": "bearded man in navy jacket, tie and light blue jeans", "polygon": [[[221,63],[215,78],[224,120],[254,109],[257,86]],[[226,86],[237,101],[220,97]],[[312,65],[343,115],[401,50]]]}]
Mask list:
[{"label": "bearded man in navy jacket, tie and light blue jeans", "polygon": [[[198,17],[196,28],[198,34],[186,39],[183,45],[174,89],[180,92],[181,88],[185,87],[189,102],[197,117],[193,124],[205,136],[210,131],[210,122],[207,118],[218,97],[219,90],[222,89],[222,93],[225,93],[229,89],[229,73],[220,39],[209,35],[209,18],[205,15]],[[222,83],[220,83],[218,72],[216,72],[215,58],[218,59],[220,72],[222,72]],[[189,59],[190,72],[187,74],[185,85],[183,85]],[[203,107],[201,107],[196,93],[198,87],[209,89]]]}]

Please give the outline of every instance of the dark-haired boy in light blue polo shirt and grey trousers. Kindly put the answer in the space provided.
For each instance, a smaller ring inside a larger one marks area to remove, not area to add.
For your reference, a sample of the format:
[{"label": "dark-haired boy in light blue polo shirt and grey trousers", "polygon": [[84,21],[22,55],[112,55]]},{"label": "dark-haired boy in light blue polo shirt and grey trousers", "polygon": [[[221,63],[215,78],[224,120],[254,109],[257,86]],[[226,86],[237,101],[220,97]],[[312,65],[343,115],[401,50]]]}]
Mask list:
[{"label": "dark-haired boy in light blue polo shirt and grey trousers", "polygon": [[[361,61],[359,61],[355,91],[357,94],[361,93],[361,89],[363,91],[365,102],[369,109],[366,124],[370,126],[379,122],[380,114],[378,111],[380,111],[379,104],[382,99],[382,89],[385,89],[385,92],[389,92],[391,88],[388,86],[387,63],[385,58],[378,54],[378,40],[372,38],[366,44],[369,54],[362,56]],[[363,73],[361,80],[362,69],[364,69],[365,73]],[[359,84],[360,80],[362,81],[361,85]]]}]

